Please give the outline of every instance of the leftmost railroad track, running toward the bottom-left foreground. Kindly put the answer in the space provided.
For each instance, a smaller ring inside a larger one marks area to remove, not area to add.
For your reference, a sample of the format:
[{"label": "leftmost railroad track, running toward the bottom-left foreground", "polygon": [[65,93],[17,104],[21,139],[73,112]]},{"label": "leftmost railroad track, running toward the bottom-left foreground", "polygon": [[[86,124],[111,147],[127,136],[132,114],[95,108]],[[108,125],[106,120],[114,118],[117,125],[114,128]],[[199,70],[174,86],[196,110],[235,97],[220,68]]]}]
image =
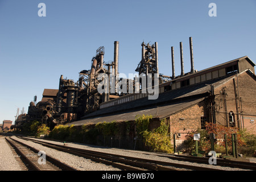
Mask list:
[{"label": "leftmost railroad track, running toward the bottom-left foreground", "polygon": [[[76,169],[61,163],[51,156],[44,155],[39,150],[28,146],[18,140],[5,137],[7,142],[13,147],[16,154],[19,155],[18,163],[23,170],[28,171],[76,171]],[[38,155],[38,154],[43,154]],[[44,160],[46,159],[46,160]],[[23,164],[22,164],[23,163]]]}]

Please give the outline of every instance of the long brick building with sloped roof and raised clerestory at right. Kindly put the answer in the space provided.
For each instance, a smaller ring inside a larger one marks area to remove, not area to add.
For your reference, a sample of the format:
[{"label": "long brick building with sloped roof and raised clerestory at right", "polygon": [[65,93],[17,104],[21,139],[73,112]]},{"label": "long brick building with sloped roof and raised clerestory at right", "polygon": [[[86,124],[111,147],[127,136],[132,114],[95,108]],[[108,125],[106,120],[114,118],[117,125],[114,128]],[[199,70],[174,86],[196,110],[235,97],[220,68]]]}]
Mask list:
[{"label": "long brick building with sloped roof and raised clerestory at right", "polygon": [[205,122],[246,129],[256,134],[255,64],[244,56],[211,68],[186,73],[159,85],[157,100],[147,93],[132,93],[101,104],[99,110],[69,125],[134,121],[136,115],[166,118],[178,142]]}]

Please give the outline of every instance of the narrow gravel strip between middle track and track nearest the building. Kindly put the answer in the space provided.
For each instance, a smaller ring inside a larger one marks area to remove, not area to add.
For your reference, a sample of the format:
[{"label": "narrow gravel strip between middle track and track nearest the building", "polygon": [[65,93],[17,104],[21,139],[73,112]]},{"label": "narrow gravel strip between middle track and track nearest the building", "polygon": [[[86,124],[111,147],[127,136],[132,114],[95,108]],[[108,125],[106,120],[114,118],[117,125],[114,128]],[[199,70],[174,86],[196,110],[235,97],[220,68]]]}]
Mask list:
[{"label": "narrow gravel strip between middle track and track nearest the building", "polygon": [[[43,139],[38,139],[43,140]],[[46,140],[46,142],[56,143],[56,144],[63,144],[62,142],[55,142]],[[216,169],[223,169],[228,171],[247,171],[246,169],[237,169],[237,168],[230,168],[230,167],[220,167],[220,166],[213,166],[210,164],[197,164],[197,163],[191,163],[191,162],[183,162],[183,161],[177,161],[170,158],[158,156],[158,153],[154,152],[146,152],[146,151],[135,151],[135,150],[125,150],[125,149],[119,149],[119,148],[107,148],[107,147],[99,147],[99,146],[91,146],[88,144],[81,144],[81,143],[67,143],[70,147],[77,147],[77,148],[83,148],[86,150],[93,150],[93,151],[102,151],[102,152],[109,152],[111,154],[121,154],[121,155],[127,155],[127,156],[133,156],[137,158],[144,158],[144,159],[152,159],[152,160],[163,160],[166,162],[174,162],[174,163],[180,163],[180,164],[193,164],[195,166],[201,166],[201,167],[210,167],[210,168],[216,168]],[[78,157],[79,158],[79,157]],[[81,158],[83,160],[86,160],[84,158]],[[76,163],[76,162],[74,162]],[[90,170],[90,169],[89,169]],[[99,170],[99,169],[96,169]],[[106,169],[111,170],[111,169]]]}]

